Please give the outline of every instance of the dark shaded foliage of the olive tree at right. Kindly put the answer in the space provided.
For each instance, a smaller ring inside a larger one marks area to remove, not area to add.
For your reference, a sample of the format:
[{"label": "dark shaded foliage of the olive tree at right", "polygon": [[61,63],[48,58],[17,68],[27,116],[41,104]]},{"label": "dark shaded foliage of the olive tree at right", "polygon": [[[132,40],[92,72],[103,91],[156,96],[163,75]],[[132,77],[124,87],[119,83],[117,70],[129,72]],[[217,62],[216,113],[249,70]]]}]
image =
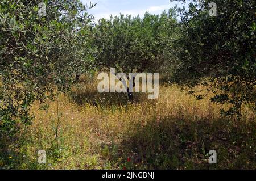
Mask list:
[{"label": "dark shaded foliage of the olive tree at right", "polygon": [[193,87],[210,78],[211,100],[232,104],[222,110],[225,115],[240,115],[242,103],[253,103],[255,109],[255,1],[214,1],[217,16],[209,16],[210,2],[180,9],[176,79]]}]

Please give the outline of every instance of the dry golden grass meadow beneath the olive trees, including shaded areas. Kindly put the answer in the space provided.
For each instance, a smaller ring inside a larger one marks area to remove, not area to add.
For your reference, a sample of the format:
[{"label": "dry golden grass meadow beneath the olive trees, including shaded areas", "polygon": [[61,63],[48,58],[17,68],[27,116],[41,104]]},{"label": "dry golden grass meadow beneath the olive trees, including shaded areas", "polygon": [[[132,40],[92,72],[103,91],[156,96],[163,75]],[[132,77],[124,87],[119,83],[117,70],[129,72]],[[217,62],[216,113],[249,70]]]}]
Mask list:
[{"label": "dry golden grass meadow beneath the olive trees, including shaded areas", "polygon": [[[203,87],[198,87],[199,90]],[[44,110],[19,144],[10,145],[9,166],[20,169],[255,169],[255,113],[220,115],[209,96],[196,100],[177,85],[160,85],[159,98],[100,94],[97,81],[81,78]],[[38,150],[47,163],[38,164]],[[208,151],[217,151],[217,164]],[[16,155],[16,156],[14,156]],[[18,156],[17,156],[18,155]],[[1,164],[1,163],[0,163]]]}]

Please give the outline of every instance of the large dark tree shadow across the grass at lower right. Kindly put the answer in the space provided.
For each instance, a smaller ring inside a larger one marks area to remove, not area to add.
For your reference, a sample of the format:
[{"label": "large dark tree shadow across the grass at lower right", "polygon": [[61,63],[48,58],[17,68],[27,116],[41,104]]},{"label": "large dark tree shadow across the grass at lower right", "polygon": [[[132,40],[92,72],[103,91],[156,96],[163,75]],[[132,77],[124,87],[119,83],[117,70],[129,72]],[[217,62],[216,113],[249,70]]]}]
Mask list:
[{"label": "large dark tree shadow across the grass at lower right", "polygon": [[[255,126],[255,120],[166,117],[134,125],[121,147],[130,169],[255,169]],[[217,151],[217,164],[209,164],[209,150]]]}]

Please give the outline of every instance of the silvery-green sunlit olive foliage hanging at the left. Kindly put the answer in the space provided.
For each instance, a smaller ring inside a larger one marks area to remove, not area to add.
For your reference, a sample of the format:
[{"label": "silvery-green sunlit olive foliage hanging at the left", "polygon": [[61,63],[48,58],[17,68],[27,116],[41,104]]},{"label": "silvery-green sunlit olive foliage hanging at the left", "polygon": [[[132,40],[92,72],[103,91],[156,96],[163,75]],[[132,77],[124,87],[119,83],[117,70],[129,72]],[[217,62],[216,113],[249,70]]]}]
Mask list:
[{"label": "silvery-green sunlit olive foliage hanging at the left", "polygon": [[[89,69],[90,16],[81,1],[3,0],[0,3],[0,135],[30,123],[30,106],[67,91],[73,74]],[[91,6],[94,6],[91,4]],[[57,88],[57,89],[56,89]]]}]

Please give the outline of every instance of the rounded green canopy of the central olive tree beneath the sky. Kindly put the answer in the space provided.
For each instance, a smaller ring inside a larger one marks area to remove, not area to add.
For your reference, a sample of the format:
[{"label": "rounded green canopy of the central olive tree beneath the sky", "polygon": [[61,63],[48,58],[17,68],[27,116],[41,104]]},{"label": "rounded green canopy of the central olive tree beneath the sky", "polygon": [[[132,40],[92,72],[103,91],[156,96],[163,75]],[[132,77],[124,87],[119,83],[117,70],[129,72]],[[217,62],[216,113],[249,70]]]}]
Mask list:
[{"label": "rounded green canopy of the central olive tree beneath the sky", "polygon": [[160,16],[146,12],[143,19],[122,14],[100,19],[94,41],[99,52],[98,65],[126,73],[166,67],[178,31],[175,9]]}]

